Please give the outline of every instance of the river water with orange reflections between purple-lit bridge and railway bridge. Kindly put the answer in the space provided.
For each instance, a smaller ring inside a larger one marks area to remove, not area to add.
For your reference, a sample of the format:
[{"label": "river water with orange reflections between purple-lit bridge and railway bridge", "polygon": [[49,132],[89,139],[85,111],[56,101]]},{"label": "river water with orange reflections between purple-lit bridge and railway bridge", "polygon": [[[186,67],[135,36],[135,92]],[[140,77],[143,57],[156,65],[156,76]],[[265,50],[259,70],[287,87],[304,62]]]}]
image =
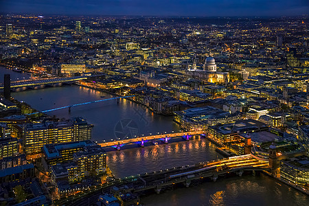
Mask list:
[{"label": "river water with orange reflections between purple-lit bridge and railway bridge", "polygon": [[207,139],[194,139],[108,152],[107,164],[115,176],[122,178],[222,158],[216,147],[207,143]]}]

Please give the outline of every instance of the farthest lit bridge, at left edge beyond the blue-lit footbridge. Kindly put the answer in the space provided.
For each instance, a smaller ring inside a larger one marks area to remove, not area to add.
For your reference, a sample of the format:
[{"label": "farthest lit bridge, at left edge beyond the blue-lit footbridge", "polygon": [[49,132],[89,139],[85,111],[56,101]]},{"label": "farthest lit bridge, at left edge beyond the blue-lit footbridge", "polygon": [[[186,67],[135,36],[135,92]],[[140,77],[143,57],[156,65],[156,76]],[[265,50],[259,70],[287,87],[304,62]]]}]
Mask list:
[{"label": "farthest lit bridge, at left edge beyond the blue-lit footbridge", "polygon": [[[11,89],[14,91],[23,91],[25,89],[42,89],[46,86],[56,87],[62,84],[73,84],[79,80],[87,80],[85,76],[76,76],[71,78],[51,78],[45,80],[24,80],[11,83]],[[0,89],[3,89],[3,84],[0,84]]]}]

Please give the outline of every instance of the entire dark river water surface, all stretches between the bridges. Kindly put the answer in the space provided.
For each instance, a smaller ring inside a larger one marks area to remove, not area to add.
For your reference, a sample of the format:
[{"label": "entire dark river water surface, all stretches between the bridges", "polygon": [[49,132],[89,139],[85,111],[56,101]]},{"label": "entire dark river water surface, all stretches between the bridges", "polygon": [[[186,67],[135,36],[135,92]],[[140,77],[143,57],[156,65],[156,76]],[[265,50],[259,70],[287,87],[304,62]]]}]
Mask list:
[{"label": "entire dark river water surface, all stretches between the bridges", "polygon": [[[29,78],[25,73],[16,73],[0,68],[3,74],[10,72],[12,78]],[[13,77],[14,76],[14,77]],[[12,93],[17,100],[23,100],[32,107],[43,111],[82,102],[113,98],[113,95],[78,87],[75,85],[27,90]],[[81,116],[93,127],[93,140],[102,142],[108,139],[123,138],[127,135],[148,135],[179,130],[172,117],[155,115],[145,106],[128,100],[108,100],[49,113],[57,117]],[[108,152],[108,166],[117,177],[164,170],[180,165],[222,158],[216,146],[207,139],[179,141],[171,144],[131,148]],[[218,179],[177,188],[161,194],[142,197],[145,205],[308,205],[309,198],[268,176],[242,176]]]}]

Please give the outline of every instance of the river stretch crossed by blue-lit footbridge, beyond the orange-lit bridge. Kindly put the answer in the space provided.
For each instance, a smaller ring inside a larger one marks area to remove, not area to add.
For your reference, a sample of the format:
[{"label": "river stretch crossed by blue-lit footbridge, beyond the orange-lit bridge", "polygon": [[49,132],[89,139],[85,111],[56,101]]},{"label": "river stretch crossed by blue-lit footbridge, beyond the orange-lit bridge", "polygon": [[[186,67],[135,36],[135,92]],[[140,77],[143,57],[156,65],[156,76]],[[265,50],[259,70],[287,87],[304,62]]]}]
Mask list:
[{"label": "river stretch crossed by blue-lit footbridge, beyond the orange-lit bridge", "polygon": [[[108,93],[76,85],[12,93],[12,96],[17,100],[23,100],[40,111],[82,102],[102,100],[102,95],[106,99],[115,97]],[[60,118],[84,117],[88,122],[95,125],[93,127],[93,139],[98,142],[103,142],[104,139],[115,139],[115,126],[122,119],[132,119],[138,126],[139,135],[179,130],[179,126],[172,121],[172,117],[154,115],[145,106],[126,99],[120,99],[119,104],[117,100],[108,100],[73,107],[71,108],[71,113],[67,109],[62,109],[48,114],[56,115]]]}]

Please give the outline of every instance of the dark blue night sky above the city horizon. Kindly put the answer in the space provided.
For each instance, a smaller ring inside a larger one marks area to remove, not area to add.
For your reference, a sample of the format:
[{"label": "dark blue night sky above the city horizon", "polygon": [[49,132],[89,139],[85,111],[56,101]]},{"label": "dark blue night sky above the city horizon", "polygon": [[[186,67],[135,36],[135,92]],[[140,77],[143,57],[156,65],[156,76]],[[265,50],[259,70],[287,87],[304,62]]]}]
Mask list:
[{"label": "dark blue night sky above the city horizon", "polygon": [[0,0],[2,14],[295,16],[309,0]]}]

